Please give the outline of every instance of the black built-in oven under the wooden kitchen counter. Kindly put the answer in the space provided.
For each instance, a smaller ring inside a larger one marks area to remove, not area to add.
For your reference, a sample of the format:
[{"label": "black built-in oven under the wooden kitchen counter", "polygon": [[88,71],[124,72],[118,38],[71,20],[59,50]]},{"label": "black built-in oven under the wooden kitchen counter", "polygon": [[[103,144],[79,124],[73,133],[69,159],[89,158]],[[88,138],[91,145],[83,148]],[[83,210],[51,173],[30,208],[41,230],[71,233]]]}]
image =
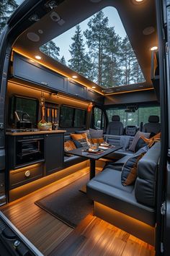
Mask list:
[{"label": "black built-in oven under the wooden kitchen counter", "polygon": [[44,160],[44,136],[16,136],[14,168]]}]

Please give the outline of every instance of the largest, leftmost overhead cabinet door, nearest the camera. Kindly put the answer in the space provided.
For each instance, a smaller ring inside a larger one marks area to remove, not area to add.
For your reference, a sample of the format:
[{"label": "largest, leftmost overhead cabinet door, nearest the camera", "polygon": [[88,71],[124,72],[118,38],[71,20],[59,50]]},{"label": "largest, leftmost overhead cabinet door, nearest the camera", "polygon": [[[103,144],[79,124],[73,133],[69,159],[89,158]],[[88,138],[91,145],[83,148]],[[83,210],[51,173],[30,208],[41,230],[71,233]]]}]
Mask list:
[{"label": "largest, leftmost overhead cabinet door, nearest the camera", "polygon": [[65,77],[19,54],[14,54],[14,77],[55,90],[66,91]]}]

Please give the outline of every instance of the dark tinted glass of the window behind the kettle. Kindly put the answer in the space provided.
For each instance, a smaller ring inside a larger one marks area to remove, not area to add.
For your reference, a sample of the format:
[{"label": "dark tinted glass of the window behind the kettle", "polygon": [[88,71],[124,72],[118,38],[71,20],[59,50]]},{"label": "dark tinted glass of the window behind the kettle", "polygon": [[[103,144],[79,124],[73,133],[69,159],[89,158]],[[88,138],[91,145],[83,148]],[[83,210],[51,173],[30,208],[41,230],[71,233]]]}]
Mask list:
[{"label": "dark tinted glass of the window behind the kettle", "polygon": [[14,114],[15,111],[17,111],[19,119],[22,119],[22,115],[25,114],[24,119],[30,119],[33,126],[37,126],[38,101],[36,99],[12,96],[10,110],[10,122],[12,124],[17,122],[17,118]]}]

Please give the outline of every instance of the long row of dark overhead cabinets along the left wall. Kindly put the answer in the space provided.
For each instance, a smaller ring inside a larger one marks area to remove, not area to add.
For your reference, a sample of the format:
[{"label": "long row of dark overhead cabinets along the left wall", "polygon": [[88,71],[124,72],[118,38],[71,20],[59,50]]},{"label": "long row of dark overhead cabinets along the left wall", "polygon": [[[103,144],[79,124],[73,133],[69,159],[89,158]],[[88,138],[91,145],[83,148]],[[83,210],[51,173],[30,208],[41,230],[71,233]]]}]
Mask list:
[{"label": "long row of dark overhead cabinets along the left wall", "polygon": [[14,53],[13,68],[15,78],[32,82],[45,88],[51,88],[61,93],[84,99],[85,101],[92,101],[98,105],[102,105],[104,102],[104,96],[99,93],[17,53]]}]

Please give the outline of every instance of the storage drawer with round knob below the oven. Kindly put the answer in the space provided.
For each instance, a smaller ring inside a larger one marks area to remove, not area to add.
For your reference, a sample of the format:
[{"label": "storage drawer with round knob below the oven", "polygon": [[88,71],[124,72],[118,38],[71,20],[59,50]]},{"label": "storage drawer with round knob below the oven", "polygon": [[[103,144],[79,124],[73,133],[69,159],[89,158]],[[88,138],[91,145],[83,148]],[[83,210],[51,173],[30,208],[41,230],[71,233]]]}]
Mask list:
[{"label": "storage drawer with round knob below the oven", "polygon": [[41,178],[42,174],[42,165],[28,166],[27,168],[9,171],[9,186],[11,189],[22,186]]}]

